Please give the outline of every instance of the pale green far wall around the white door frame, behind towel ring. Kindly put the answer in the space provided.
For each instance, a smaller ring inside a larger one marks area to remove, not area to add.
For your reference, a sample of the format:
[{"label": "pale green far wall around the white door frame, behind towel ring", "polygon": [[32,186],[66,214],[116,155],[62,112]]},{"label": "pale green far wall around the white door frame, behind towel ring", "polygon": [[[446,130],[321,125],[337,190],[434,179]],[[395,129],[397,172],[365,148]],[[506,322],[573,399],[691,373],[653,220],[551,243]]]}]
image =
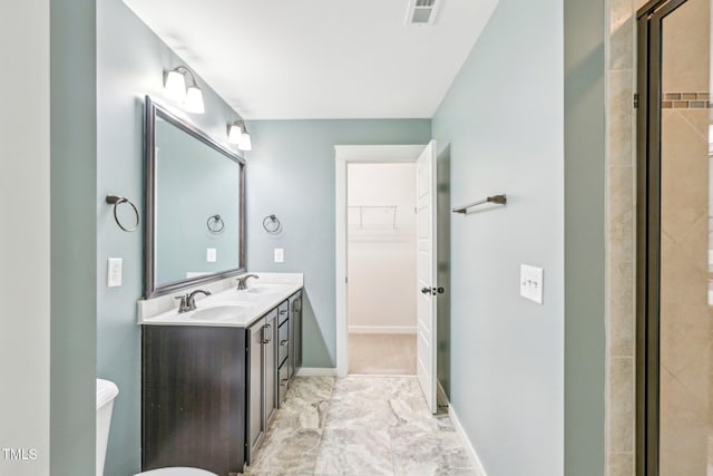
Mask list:
[{"label": "pale green far wall around the white door frame, behind towel ring", "polygon": [[[334,146],[426,144],[429,119],[251,122],[247,269],[304,273],[305,367],[335,366]],[[275,214],[283,232],[270,235]],[[285,262],[273,262],[283,247]]]}]

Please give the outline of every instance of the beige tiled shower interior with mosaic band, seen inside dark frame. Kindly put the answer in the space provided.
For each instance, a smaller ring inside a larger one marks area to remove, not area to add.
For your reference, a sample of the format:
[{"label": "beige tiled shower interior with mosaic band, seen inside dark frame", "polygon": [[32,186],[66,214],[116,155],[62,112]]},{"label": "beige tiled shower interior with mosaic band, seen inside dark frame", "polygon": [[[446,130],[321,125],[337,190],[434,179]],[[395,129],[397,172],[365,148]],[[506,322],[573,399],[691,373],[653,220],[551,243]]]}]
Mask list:
[{"label": "beige tiled shower interior with mosaic band, seen inside dark frame", "polygon": [[710,474],[710,0],[688,0],[666,17],[662,38],[662,475]]}]

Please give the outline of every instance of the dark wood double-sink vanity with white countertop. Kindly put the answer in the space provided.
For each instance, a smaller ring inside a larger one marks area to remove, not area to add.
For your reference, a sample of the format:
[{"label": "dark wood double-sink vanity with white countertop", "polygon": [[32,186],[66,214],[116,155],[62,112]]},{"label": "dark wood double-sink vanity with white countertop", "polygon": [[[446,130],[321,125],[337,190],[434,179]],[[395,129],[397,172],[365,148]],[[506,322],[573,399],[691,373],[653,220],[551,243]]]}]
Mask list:
[{"label": "dark wood double-sink vanity with white countertop", "polygon": [[213,292],[194,311],[144,317],[152,305],[139,305],[144,470],[234,476],[250,464],[302,361],[302,275],[279,276]]}]

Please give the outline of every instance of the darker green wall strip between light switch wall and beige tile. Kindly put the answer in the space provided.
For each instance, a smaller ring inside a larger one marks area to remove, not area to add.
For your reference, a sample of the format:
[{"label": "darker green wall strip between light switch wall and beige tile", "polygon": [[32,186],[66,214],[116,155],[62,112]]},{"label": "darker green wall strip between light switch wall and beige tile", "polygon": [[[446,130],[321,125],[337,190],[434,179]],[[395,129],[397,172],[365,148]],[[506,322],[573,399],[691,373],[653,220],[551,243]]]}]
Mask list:
[{"label": "darker green wall strip between light switch wall and beige tile", "polygon": [[604,474],[604,1],[565,4],[565,474]]}]

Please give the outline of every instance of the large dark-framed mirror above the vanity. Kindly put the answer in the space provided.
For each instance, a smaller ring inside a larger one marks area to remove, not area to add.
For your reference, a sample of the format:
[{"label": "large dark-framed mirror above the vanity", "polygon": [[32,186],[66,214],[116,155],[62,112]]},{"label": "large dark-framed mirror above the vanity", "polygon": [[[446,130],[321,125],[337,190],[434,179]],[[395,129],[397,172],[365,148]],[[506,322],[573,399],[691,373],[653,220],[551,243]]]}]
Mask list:
[{"label": "large dark-framed mirror above the vanity", "polygon": [[245,271],[245,161],[146,97],[145,298]]}]

